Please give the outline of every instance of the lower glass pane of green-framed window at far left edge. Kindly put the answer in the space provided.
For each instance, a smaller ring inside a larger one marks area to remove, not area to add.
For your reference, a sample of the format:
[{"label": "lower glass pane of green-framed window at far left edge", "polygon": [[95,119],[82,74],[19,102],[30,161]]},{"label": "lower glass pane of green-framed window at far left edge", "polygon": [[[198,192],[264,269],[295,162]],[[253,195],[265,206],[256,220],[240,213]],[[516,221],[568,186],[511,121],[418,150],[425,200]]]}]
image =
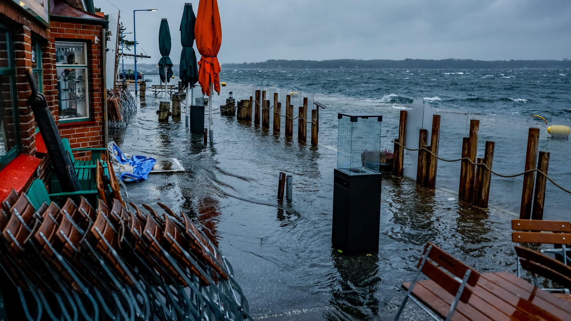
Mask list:
[{"label": "lower glass pane of green-framed window at far left edge", "polygon": [[0,157],[15,147],[17,139],[11,78],[0,76]]}]

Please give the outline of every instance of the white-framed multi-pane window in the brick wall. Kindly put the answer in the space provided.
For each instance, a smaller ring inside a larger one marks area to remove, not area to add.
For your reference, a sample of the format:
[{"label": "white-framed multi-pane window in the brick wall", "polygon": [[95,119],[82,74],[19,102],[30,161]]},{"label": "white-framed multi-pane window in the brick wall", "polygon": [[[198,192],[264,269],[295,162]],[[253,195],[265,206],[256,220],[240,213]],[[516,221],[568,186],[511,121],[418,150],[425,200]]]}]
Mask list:
[{"label": "white-framed multi-pane window in the brick wall", "polygon": [[88,117],[87,68],[58,68],[59,119]]}]

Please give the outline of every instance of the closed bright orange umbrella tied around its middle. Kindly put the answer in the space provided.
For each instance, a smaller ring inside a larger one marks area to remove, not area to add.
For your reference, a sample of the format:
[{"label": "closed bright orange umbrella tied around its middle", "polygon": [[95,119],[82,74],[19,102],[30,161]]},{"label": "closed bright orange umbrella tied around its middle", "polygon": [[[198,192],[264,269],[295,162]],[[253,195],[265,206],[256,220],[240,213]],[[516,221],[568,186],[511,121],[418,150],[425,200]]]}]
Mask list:
[{"label": "closed bright orange umbrella tied around its middle", "polygon": [[194,27],[196,48],[202,57],[198,62],[198,82],[203,94],[211,94],[210,84],[220,94],[220,63],[218,51],[222,43],[222,26],[220,26],[220,13],[218,1],[200,0],[196,25]]}]

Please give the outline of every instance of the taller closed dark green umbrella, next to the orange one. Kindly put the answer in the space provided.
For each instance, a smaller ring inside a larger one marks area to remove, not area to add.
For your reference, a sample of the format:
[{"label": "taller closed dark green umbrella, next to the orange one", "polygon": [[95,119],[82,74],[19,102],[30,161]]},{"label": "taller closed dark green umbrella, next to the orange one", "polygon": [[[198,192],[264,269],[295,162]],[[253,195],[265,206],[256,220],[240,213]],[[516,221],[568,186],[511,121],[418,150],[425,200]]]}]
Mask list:
[{"label": "taller closed dark green umbrella, next to the orange one", "polygon": [[[188,127],[188,86],[194,86],[198,81],[198,65],[196,64],[196,53],[192,45],[194,43],[194,25],[196,16],[192,10],[192,3],[185,3],[180,21],[180,44],[182,51],[180,53],[180,80],[184,88],[186,88],[186,126]],[[191,101],[192,103],[192,101]]]}]

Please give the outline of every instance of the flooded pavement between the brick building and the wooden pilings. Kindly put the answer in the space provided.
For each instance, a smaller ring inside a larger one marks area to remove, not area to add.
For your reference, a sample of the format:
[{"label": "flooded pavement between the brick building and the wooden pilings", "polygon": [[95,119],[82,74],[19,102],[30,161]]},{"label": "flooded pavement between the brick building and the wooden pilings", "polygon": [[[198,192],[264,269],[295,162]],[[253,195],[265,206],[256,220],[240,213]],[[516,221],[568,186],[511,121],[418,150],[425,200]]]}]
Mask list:
[{"label": "flooded pavement between the brick building and the wooden pilings", "polygon": [[[247,86],[223,90],[233,91],[237,100],[250,95]],[[213,108],[225,98],[215,97]],[[274,135],[219,114],[214,143],[204,145],[202,134],[188,134],[184,111],[180,121],[159,123],[159,101],[160,96],[147,96],[126,129],[110,130],[110,140],[129,154],[178,158],[186,172],[150,174],[144,182],[128,183],[130,199],[157,209],[161,202],[190,215],[231,261],[258,319],[391,319],[404,297],[400,284],[413,278],[428,241],[480,272],[514,271],[513,212],[478,210],[459,202],[455,192],[427,190],[392,175],[383,177],[379,253],[337,253],[331,247],[331,212],[336,113],[343,106],[327,96],[316,97],[329,106],[320,111],[317,147],[298,142],[295,127],[294,137],[286,139],[283,132]],[[353,111],[366,107],[351,103]],[[384,147],[392,147],[397,117],[398,110],[392,110],[383,118]],[[457,174],[446,166],[460,164],[443,166],[437,182],[452,190]],[[292,202],[276,200],[280,171],[293,175]],[[521,183],[513,185],[521,195]],[[493,198],[501,199],[492,191],[490,203]],[[409,303],[401,319],[428,316]]]}]

